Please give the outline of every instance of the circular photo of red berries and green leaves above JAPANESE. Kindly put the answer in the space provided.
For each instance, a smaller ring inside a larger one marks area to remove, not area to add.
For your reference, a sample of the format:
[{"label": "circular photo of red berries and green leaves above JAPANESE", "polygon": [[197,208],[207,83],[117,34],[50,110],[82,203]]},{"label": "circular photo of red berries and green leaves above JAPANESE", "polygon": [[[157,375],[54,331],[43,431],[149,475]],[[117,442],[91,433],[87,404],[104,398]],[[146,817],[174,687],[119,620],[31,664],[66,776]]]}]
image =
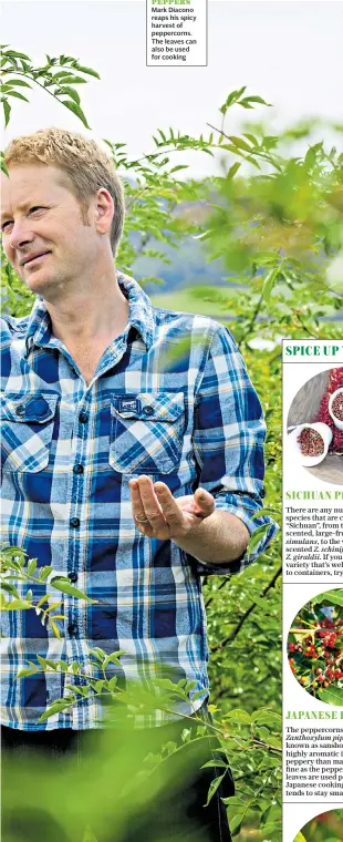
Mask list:
[{"label": "circular photo of red berries and green leaves above JAPANESE", "polygon": [[288,659],[311,696],[343,706],[343,589],[314,596],[293,619]]}]

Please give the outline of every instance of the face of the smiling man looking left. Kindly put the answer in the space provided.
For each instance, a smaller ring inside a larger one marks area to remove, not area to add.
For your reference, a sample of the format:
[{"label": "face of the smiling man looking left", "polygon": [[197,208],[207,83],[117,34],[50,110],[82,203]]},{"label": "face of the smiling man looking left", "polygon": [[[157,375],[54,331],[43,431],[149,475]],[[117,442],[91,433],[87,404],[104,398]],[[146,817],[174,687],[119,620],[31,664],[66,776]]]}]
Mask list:
[{"label": "face of the smiling man looking left", "polygon": [[96,261],[94,214],[85,225],[64,174],[53,166],[13,165],[9,173],[1,175],[4,253],[32,292],[54,298]]}]

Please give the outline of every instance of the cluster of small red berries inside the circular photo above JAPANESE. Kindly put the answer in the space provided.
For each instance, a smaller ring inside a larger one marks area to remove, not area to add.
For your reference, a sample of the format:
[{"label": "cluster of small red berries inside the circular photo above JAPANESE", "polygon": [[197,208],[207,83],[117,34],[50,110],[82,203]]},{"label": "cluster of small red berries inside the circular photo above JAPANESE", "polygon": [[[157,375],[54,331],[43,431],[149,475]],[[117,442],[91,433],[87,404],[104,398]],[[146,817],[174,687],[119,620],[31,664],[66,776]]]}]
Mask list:
[{"label": "cluster of small red berries inside the circular photo above JAPANESE", "polygon": [[[321,619],[313,626],[311,635],[303,635],[302,644],[288,645],[291,670],[313,696],[318,689],[331,684],[341,687],[337,682],[343,679],[342,626],[343,618]],[[303,630],[300,620],[299,632]]]}]

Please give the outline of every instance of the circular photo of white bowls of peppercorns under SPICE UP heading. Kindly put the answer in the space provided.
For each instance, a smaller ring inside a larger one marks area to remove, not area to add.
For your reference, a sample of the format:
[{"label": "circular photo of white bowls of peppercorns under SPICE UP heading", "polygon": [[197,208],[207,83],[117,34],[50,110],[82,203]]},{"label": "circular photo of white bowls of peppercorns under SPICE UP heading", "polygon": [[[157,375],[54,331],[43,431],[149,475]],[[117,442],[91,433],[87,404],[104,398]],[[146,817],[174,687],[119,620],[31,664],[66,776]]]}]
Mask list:
[{"label": "circular photo of white bowls of peppercorns under SPICE UP heading", "polygon": [[321,371],[297,392],[287,431],[294,464],[343,485],[343,367]]}]

